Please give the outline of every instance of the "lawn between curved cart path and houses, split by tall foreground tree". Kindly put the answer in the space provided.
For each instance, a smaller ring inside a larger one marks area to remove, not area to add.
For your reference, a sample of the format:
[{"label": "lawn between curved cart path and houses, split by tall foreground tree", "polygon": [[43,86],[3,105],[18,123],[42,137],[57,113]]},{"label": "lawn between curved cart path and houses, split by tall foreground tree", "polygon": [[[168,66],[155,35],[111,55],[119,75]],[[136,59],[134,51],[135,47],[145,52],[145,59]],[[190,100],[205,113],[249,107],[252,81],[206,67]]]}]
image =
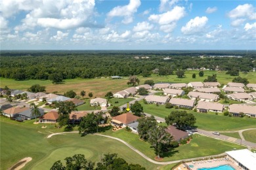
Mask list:
[{"label": "lawn between curved cart path and houses, split by tall foreground tree", "polygon": [[[106,131],[104,134],[123,139],[123,141],[131,144],[151,159],[154,159],[156,156],[154,149],[150,147],[150,144],[145,141],[140,141],[139,136],[135,133],[127,132],[124,129],[121,129],[115,132]],[[225,151],[233,150],[233,148],[242,149],[245,147],[195,134],[194,138],[189,144],[181,145],[171,152],[165,152],[163,161],[174,161],[221,154]]]}]

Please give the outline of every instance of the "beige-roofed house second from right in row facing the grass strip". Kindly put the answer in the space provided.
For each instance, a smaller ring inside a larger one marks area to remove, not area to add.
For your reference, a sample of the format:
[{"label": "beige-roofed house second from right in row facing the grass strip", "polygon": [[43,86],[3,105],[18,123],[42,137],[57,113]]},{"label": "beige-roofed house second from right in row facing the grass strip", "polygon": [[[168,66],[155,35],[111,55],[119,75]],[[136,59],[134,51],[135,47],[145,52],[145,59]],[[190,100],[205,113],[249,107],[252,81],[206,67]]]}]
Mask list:
[{"label": "beige-roofed house second from right in row facing the grass strip", "polygon": [[211,103],[205,101],[199,101],[196,107],[198,112],[223,112],[224,105],[221,103]]}]

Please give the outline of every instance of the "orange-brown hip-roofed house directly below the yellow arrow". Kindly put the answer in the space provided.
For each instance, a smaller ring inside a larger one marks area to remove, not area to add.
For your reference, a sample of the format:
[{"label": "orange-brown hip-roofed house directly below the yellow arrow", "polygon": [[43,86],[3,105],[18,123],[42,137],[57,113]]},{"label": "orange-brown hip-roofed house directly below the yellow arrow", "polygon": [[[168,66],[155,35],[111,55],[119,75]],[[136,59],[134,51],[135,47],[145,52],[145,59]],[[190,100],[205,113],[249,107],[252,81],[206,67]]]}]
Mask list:
[{"label": "orange-brown hip-roofed house directly below the yellow arrow", "polygon": [[140,118],[139,116],[135,116],[132,113],[127,112],[127,113],[123,113],[118,116],[112,117],[111,124],[113,126],[125,127],[125,126],[128,126],[129,124],[133,124],[137,122],[139,118]]}]

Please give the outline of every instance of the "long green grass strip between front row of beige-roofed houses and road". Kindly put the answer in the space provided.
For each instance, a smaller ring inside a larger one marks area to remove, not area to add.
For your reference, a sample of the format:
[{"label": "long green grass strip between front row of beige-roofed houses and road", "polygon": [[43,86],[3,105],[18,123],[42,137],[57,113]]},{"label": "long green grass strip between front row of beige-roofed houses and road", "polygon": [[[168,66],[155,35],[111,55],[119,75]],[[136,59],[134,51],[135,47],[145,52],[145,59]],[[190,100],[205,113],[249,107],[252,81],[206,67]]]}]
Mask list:
[{"label": "long green grass strip between front row of beige-roofed houses and road", "polygon": [[[144,112],[152,114],[154,116],[159,116],[161,118],[165,118],[168,116],[171,111],[176,109],[166,109],[164,105],[156,106],[154,104],[144,104],[140,101]],[[179,109],[182,110],[182,109]],[[255,118],[238,118],[233,116],[223,116],[223,113],[219,113],[218,115],[214,113],[200,113],[194,112],[192,110],[186,110],[187,112],[191,112],[196,116],[196,126],[200,129],[205,129],[208,131],[232,131],[232,130],[240,130],[251,127],[256,127],[256,119]]]}]

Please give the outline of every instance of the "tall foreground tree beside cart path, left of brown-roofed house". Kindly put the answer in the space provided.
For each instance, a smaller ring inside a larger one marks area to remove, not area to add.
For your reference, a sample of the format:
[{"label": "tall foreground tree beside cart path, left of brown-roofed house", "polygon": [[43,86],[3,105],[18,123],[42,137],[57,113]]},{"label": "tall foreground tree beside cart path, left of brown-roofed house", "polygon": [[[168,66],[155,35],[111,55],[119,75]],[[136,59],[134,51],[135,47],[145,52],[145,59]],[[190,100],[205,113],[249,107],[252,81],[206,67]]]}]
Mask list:
[{"label": "tall foreground tree beside cart path, left of brown-roofed house", "polygon": [[158,158],[165,149],[171,147],[173,141],[173,137],[165,131],[165,128],[165,126],[154,126],[148,130],[148,142],[154,147]]}]

